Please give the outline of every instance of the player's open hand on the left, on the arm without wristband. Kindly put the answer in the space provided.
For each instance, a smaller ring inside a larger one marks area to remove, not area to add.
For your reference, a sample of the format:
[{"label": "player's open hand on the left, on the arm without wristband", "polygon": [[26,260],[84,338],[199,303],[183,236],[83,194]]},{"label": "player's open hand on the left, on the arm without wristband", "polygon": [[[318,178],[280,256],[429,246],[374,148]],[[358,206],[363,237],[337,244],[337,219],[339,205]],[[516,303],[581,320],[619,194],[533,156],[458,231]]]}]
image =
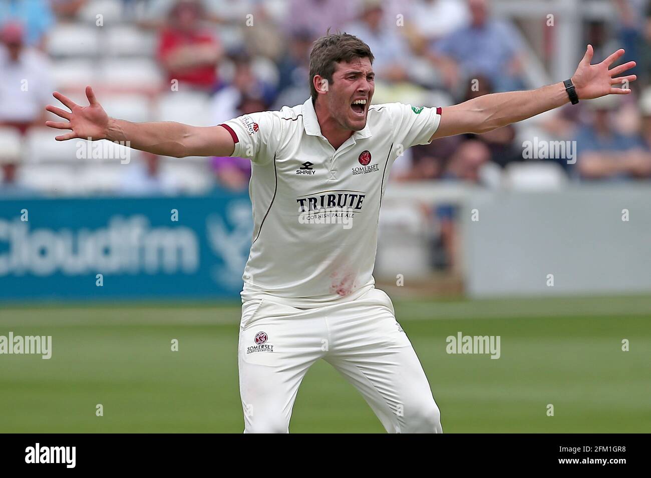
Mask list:
[{"label": "player's open hand on the left, on the arm without wristband", "polygon": [[72,129],[71,133],[59,135],[55,137],[57,141],[65,141],[68,139],[81,138],[81,139],[106,139],[109,129],[110,118],[98,103],[95,94],[92,92],[90,86],[86,86],[86,98],[88,98],[89,106],[79,106],[74,101],[59,92],[53,93],[54,98],[61,101],[70,111],[48,105],[46,110],[50,113],[57,114],[67,121],[46,121],[45,125],[55,129]]}]

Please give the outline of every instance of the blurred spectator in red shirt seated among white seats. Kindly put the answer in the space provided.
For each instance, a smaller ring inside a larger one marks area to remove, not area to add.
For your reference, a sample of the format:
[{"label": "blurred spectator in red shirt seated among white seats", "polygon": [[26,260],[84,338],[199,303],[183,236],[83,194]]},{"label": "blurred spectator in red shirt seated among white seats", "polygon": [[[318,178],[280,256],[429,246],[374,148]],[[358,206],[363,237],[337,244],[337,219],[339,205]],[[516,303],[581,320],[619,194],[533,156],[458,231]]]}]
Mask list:
[{"label": "blurred spectator in red shirt seated among white seats", "polygon": [[179,1],[169,12],[169,23],[159,37],[158,59],[168,84],[212,92],[217,85],[217,63],[222,49],[218,40],[202,28],[200,3]]}]

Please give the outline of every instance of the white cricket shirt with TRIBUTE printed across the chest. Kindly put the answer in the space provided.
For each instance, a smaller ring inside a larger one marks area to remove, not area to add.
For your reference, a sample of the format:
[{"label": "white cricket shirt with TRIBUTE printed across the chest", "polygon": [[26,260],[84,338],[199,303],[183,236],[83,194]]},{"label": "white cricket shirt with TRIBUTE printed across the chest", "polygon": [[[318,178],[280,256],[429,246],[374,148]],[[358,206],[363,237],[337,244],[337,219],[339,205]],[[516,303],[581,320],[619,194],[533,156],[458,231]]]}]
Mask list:
[{"label": "white cricket shirt with TRIBUTE printed across the chest", "polygon": [[336,151],[311,98],[222,124],[235,141],[232,155],[253,163],[242,299],[266,293],[309,306],[372,287],[391,165],[410,146],[427,144],[440,120],[441,108],[371,105],[365,128]]}]

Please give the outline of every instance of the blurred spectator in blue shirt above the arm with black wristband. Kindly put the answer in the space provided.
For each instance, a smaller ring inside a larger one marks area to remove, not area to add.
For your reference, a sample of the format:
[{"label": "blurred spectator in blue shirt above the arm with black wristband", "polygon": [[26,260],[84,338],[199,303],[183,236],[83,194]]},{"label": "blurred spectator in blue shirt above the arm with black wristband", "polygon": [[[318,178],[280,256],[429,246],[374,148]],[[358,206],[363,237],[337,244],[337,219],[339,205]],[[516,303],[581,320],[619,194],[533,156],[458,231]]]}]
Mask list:
[{"label": "blurred spectator in blue shirt above the arm with black wristband", "polygon": [[450,88],[483,75],[490,79],[495,91],[522,89],[520,34],[510,23],[489,18],[488,0],[467,1],[471,14],[469,25],[441,38],[433,47],[432,62]]}]

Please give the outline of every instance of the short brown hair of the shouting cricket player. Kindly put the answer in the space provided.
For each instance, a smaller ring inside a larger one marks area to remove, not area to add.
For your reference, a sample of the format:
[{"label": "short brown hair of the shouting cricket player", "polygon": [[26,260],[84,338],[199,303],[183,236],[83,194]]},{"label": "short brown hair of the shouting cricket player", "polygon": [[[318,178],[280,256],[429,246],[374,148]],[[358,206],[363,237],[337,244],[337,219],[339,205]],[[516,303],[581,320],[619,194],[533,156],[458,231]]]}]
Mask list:
[{"label": "short brown hair of the shouting cricket player", "polygon": [[322,36],[312,46],[310,53],[310,92],[312,103],[316,101],[316,88],[314,88],[314,75],[324,77],[330,83],[335,65],[340,61],[350,62],[357,58],[368,58],[373,63],[373,53],[370,48],[357,36],[348,33],[330,33]]}]

